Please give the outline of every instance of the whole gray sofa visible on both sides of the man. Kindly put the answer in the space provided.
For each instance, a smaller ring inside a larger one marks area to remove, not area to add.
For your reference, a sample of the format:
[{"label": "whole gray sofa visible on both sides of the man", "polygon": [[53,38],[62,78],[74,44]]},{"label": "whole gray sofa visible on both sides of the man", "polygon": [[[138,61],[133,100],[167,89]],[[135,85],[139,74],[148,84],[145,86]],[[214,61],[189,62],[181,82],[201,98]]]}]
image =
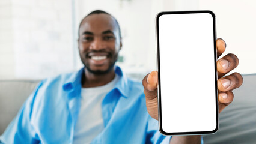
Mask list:
[{"label": "whole gray sofa visible on both sides of the man", "polygon": [[[233,91],[233,103],[220,114],[219,130],[204,135],[205,143],[256,143],[256,74],[244,75],[243,79],[243,85]],[[38,82],[0,80],[0,134]]]}]

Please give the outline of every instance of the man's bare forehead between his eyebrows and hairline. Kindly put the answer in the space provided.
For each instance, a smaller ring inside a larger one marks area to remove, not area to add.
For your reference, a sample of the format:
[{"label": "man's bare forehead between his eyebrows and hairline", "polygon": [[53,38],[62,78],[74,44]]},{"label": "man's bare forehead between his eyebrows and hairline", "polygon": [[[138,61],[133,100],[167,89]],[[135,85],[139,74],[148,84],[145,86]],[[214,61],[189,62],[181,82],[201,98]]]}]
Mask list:
[{"label": "man's bare forehead between his eyebrows and hairline", "polygon": [[91,14],[82,20],[80,32],[83,31],[105,31],[117,29],[117,24],[109,14]]}]

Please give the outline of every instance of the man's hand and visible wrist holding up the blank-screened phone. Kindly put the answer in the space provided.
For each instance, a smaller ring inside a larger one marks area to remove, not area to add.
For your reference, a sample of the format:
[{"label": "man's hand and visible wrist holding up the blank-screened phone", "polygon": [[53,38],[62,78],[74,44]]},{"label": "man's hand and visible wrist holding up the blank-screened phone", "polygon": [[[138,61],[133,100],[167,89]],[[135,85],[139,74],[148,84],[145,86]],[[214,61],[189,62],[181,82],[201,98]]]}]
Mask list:
[{"label": "man's hand and visible wrist holding up the blank-screened phone", "polygon": [[[225,51],[226,44],[224,40],[219,38],[216,41],[216,45],[219,58]],[[236,55],[231,53],[217,61],[219,113],[233,101],[234,95],[232,90],[239,88],[243,83],[243,77],[239,73],[225,76],[225,74],[236,68],[238,64],[239,59]],[[144,86],[148,113],[152,118],[158,120],[157,81],[157,71],[152,71],[144,77],[142,83]],[[173,136],[170,143],[201,143],[201,136]]]}]

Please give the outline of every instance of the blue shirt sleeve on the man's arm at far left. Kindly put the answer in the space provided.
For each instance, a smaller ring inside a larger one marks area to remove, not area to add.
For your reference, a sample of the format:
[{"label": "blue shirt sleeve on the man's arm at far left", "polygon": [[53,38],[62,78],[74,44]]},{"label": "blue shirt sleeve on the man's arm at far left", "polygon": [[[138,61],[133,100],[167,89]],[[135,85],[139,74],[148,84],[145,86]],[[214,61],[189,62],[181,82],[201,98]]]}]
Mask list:
[{"label": "blue shirt sleeve on the man's arm at far left", "polygon": [[31,113],[38,89],[41,82],[34,92],[29,95],[23,106],[20,108],[17,116],[8,125],[4,134],[0,136],[0,143],[39,143],[37,134],[31,125]]}]

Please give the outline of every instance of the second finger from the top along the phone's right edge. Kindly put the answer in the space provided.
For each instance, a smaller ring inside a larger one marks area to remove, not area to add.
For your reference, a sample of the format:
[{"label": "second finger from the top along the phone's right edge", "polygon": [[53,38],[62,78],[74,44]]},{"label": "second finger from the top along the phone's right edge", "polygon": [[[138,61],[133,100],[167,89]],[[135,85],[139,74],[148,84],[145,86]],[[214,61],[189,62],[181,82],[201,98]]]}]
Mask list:
[{"label": "second finger from the top along the phone's right edge", "polygon": [[217,71],[218,78],[225,76],[225,74],[229,73],[231,70],[237,67],[239,64],[239,59],[233,53],[228,53],[223,58],[217,61]]}]

